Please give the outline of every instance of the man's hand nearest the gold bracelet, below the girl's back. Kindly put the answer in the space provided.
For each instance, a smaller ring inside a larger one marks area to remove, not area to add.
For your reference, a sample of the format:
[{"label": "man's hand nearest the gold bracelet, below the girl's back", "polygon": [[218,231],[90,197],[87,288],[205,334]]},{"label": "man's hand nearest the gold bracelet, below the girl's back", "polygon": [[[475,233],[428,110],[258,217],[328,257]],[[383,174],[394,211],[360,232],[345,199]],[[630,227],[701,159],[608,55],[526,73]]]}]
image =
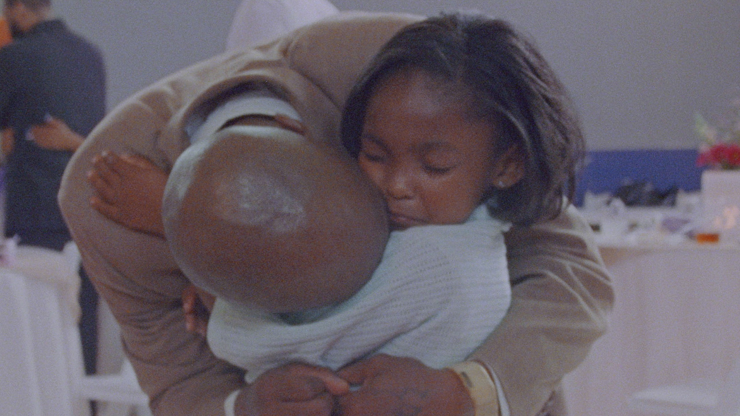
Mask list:
[{"label": "man's hand nearest the gold bracelet, below the girl's back", "polygon": [[413,358],[376,355],[337,372],[355,392],[339,397],[343,416],[472,416],[473,401],[449,369]]}]

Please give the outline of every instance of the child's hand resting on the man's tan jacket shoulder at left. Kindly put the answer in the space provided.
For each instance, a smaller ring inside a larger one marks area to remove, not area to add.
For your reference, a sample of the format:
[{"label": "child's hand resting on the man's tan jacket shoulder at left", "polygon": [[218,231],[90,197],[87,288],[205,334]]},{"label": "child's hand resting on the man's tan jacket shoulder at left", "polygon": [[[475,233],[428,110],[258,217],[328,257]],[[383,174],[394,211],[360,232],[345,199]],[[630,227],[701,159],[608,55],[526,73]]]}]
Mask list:
[{"label": "child's hand resting on the man's tan jacket shoulder at left", "polygon": [[164,238],[162,196],[167,174],[139,155],[102,152],[87,173],[90,205],[118,224]]}]

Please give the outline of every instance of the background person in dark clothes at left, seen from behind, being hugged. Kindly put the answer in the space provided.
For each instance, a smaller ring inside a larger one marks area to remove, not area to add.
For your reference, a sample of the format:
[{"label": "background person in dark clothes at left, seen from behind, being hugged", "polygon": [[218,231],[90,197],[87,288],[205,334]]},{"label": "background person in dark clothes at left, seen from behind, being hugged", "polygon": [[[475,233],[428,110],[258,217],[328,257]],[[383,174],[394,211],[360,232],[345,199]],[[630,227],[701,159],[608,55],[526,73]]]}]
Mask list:
[{"label": "background person in dark clothes at left, seen from behind, being hugged", "polygon": [[[12,44],[0,50],[0,129],[6,158],[5,235],[61,250],[70,232],[56,200],[64,168],[105,113],[105,70],[95,45],[71,32],[50,0],[4,0]],[[34,126],[69,126],[36,138]],[[86,371],[95,372],[97,295],[84,277],[80,301]]]}]

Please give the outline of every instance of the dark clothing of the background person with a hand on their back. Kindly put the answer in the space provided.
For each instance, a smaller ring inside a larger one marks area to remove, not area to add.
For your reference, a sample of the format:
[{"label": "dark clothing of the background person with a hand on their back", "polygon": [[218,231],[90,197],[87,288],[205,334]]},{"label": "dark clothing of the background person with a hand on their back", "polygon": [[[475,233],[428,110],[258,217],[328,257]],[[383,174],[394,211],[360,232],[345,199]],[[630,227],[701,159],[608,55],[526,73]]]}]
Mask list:
[{"label": "dark clothing of the background person with a hand on their back", "polygon": [[27,130],[53,116],[87,135],[104,113],[101,53],[61,20],[41,22],[0,50],[0,127],[16,136],[5,173],[6,235],[19,234],[22,244],[24,235],[67,232],[56,194],[72,152],[41,149]]}]

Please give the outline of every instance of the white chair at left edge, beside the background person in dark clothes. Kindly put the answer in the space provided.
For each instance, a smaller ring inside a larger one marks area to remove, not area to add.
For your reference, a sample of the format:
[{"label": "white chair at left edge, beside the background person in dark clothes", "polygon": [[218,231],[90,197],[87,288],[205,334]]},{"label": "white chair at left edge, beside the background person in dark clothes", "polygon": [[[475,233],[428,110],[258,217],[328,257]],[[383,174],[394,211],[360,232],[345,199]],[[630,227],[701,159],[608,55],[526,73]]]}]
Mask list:
[{"label": "white chair at left edge, beside the background person in dark clothes", "polygon": [[[130,364],[115,375],[85,375],[77,325],[79,253],[21,247],[0,268],[0,415],[151,415]],[[7,318],[9,317],[9,318]],[[6,393],[7,392],[7,393]]]}]

